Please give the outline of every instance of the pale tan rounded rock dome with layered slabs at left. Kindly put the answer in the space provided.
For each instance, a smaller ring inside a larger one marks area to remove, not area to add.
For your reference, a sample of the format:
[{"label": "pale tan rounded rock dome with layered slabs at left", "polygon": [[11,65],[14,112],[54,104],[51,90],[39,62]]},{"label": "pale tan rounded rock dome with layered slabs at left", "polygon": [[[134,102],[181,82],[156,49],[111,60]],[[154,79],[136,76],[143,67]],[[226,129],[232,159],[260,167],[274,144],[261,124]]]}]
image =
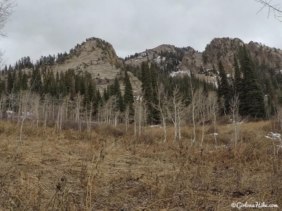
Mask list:
[{"label": "pale tan rounded rock dome with layered slabs at left", "polygon": [[75,72],[87,70],[97,85],[103,85],[120,74],[121,65],[111,44],[99,38],[90,38],[78,45],[66,61],[56,63],[47,69],[52,69],[53,72],[64,72],[68,69],[74,69]]}]

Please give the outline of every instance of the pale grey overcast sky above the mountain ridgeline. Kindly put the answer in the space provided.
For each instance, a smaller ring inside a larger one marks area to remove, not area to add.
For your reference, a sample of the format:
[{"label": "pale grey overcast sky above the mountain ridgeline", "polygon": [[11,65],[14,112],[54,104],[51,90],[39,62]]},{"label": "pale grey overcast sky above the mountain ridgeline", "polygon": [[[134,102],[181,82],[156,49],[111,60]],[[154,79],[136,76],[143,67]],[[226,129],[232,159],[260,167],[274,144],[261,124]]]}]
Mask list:
[{"label": "pale grey overcast sky above the mountain ridgeline", "polygon": [[[273,0],[273,3],[282,3]],[[69,52],[88,37],[111,43],[118,56],[160,44],[203,51],[214,37],[238,37],[282,49],[282,23],[254,0],[17,0],[2,39],[8,64],[23,56]]]}]

